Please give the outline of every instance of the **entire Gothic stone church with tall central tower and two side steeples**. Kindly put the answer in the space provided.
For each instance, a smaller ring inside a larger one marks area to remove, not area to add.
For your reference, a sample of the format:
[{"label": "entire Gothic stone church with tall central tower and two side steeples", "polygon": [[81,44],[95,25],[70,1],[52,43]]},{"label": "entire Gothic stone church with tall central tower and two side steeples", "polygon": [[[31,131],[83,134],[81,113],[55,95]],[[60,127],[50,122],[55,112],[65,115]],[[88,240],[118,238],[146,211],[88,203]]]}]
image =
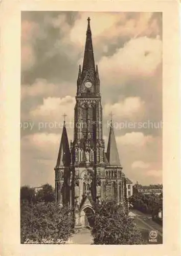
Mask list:
[{"label": "entire Gothic stone church with tall central tower and two side steeples", "polygon": [[74,209],[75,226],[91,225],[93,202],[115,199],[126,205],[122,172],[112,121],[105,153],[98,67],[95,67],[90,19],[83,67],[79,66],[74,109],[74,141],[67,138],[65,121],[55,167],[56,201]]}]

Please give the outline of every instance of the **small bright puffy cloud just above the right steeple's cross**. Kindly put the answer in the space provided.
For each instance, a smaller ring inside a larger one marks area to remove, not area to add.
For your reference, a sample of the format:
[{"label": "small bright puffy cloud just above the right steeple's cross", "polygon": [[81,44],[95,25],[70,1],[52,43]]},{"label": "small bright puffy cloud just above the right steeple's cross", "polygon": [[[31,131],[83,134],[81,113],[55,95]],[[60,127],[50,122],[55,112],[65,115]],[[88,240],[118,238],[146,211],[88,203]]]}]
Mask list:
[{"label": "small bright puffy cloud just above the right steeple's cross", "polygon": [[144,112],[143,102],[139,97],[128,97],[123,101],[114,104],[106,103],[104,105],[104,115],[108,117],[110,112],[114,114],[114,119],[119,120],[119,117],[135,117],[135,114],[142,114]]}]

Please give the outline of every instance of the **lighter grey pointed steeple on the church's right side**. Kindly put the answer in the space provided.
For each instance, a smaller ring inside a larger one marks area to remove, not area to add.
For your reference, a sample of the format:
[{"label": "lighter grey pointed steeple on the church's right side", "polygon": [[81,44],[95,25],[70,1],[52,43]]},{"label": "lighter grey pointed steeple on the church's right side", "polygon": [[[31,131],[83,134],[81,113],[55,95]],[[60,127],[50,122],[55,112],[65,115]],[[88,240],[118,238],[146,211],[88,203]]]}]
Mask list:
[{"label": "lighter grey pointed steeple on the church's right side", "polygon": [[118,154],[118,148],[117,148],[117,144],[116,144],[114,128],[112,125],[112,118],[110,121],[110,131],[109,131],[109,139],[108,139],[108,144],[107,144],[106,158],[108,160],[109,165],[121,166],[120,158],[119,158],[119,154]]}]

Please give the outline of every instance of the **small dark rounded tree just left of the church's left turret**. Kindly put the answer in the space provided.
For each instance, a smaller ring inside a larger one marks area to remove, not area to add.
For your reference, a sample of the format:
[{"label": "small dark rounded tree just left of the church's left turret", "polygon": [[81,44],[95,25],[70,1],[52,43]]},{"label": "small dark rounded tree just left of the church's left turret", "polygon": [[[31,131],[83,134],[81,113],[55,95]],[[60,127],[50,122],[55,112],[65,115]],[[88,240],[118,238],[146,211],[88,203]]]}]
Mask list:
[{"label": "small dark rounded tree just left of the church's left turret", "polygon": [[44,184],[40,190],[38,190],[36,199],[38,202],[53,202],[55,201],[55,190],[52,185]]}]

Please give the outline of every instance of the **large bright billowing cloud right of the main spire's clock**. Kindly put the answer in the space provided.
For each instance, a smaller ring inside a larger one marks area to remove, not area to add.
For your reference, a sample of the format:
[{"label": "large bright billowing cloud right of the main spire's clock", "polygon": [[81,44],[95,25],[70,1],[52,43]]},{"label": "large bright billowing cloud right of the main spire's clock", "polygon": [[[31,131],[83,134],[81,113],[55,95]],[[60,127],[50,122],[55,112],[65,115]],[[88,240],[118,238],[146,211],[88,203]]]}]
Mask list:
[{"label": "large bright billowing cloud right of the main spire's clock", "polygon": [[114,55],[101,58],[99,62],[101,84],[121,87],[129,79],[151,77],[161,62],[161,40],[148,37],[131,39]]}]

